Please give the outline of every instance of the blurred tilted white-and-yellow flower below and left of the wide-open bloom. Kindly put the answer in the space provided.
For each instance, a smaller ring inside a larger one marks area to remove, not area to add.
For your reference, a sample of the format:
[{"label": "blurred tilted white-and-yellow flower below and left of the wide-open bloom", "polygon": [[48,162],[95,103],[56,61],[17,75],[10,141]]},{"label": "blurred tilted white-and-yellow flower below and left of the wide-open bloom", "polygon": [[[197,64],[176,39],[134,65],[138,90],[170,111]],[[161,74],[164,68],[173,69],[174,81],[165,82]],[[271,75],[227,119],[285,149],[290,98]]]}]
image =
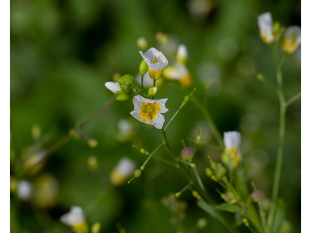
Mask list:
[{"label": "blurred tilted white-and-yellow flower below and left of the wide-open bloom", "polygon": [[126,179],[133,175],[135,169],[136,164],[133,160],[127,157],[121,158],[117,166],[110,173],[110,182],[116,186],[121,185]]}]

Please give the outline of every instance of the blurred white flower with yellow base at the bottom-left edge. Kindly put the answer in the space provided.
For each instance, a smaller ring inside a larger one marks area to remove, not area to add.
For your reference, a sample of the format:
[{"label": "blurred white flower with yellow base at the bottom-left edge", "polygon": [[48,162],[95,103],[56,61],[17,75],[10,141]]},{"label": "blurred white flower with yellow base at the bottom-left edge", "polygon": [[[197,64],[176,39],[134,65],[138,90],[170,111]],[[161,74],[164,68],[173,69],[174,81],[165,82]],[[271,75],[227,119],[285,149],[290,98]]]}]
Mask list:
[{"label": "blurred white flower with yellow base at the bottom-left edge", "polygon": [[69,213],[60,217],[60,221],[67,226],[71,227],[74,232],[81,231],[83,233],[88,232],[88,226],[86,218],[83,214],[83,210],[80,206],[72,205]]}]

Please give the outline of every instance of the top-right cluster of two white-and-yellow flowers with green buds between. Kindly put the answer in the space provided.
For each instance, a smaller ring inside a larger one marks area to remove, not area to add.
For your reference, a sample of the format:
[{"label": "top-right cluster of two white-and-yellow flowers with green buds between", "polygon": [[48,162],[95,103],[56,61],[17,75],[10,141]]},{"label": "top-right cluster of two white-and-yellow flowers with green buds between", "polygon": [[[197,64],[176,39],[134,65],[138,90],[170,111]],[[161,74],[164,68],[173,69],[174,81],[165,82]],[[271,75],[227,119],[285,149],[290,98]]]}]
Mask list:
[{"label": "top-right cluster of two white-and-yellow flowers with green buds between", "polygon": [[284,52],[291,54],[301,44],[301,28],[299,26],[290,26],[284,28],[278,22],[273,23],[270,12],[261,14],[258,17],[258,26],[261,39],[272,44],[276,41],[281,41]]}]

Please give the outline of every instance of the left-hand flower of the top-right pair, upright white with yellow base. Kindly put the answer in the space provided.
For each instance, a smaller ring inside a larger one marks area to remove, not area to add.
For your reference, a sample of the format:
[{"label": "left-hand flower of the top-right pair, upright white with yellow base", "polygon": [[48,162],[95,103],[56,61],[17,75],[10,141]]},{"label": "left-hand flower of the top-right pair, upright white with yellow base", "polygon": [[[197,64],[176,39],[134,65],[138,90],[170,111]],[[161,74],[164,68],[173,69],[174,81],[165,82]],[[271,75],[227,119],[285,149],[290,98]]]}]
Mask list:
[{"label": "left-hand flower of the top-right pair, upright white with yellow base", "polygon": [[275,39],[275,35],[273,19],[270,12],[263,13],[258,17],[258,27],[261,39],[265,43],[271,44]]}]

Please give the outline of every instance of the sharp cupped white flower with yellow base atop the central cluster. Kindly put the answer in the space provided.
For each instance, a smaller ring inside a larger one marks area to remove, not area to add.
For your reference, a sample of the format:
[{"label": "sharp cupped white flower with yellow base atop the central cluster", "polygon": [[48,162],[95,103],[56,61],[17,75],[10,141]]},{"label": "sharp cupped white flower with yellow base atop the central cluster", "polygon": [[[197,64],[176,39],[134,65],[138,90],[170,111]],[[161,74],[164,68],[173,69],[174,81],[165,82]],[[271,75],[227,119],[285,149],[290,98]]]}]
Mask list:
[{"label": "sharp cupped white flower with yellow base atop the central cluster", "polygon": [[140,55],[148,65],[148,72],[152,79],[159,79],[161,70],[169,64],[162,52],[155,48],[150,48],[145,53],[139,51]]}]

